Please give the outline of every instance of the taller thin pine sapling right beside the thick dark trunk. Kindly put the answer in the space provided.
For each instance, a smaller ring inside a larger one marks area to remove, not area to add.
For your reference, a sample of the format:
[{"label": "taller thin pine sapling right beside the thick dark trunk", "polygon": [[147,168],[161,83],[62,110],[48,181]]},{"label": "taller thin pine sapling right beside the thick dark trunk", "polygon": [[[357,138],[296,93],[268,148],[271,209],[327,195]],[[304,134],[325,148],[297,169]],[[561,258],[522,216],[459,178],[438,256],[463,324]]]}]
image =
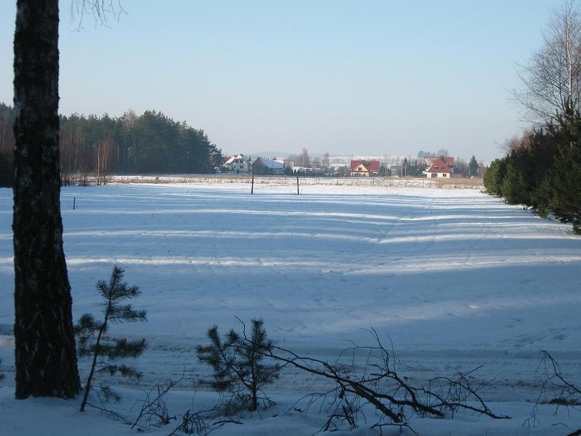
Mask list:
[{"label": "taller thin pine sapling right beside the thick dark trunk", "polygon": [[[134,299],[141,293],[137,286],[127,286],[123,280],[125,270],[119,266],[113,266],[109,283],[104,280],[97,282],[95,287],[103,297],[103,321],[93,318],[90,313],[85,313],[79,318],[75,326],[78,336],[78,354],[82,357],[93,357],[93,363],[89,371],[83,402],[80,411],[85,411],[85,405],[95,373],[108,373],[115,375],[120,373],[123,377],[140,378],[141,373],[131,366],[117,364],[118,360],[135,358],[145,351],[145,339],[139,341],[127,341],[125,338],[105,338],[110,323],[134,323],[147,321],[147,312],[135,310],[131,304],[122,304],[127,299]],[[99,387],[105,398],[119,399],[108,387]]]}]

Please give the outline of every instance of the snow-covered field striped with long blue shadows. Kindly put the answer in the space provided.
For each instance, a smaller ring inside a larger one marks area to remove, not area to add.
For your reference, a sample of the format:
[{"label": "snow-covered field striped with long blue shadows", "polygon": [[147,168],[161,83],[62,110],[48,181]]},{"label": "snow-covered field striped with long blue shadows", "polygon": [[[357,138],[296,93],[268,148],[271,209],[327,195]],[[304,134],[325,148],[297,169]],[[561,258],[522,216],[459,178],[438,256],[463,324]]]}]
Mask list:
[{"label": "snow-covered field striped with long blue shadows", "polygon": [[[385,342],[391,338],[410,383],[483,365],[478,376],[491,380],[483,397],[496,412],[513,415],[502,422],[415,418],[411,425],[421,434],[560,435],[567,427],[553,424],[581,427],[581,412],[553,416],[550,405],[538,412],[541,427],[521,427],[540,390],[540,350],[581,384],[581,238],[570,226],[479,190],[426,182],[313,183],[299,196],[290,183],[257,183],[251,195],[248,183],[236,180],[63,188],[73,316],[98,315],[95,281],[120,264],[142,291],[135,306],[148,311],[147,323],[118,329],[150,344],[137,362],[142,387],[184,368],[192,378],[207,375],[194,346],[206,342],[212,324],[237,328],[236,316],[261,317],[279,345],[330,360],[348,341],[372,345],[366,329],[373,327]],[[11,400],[11,201],[11,190],[1,189],[0,368],[7,377],[0,382],[0,427],[6,420],[8,434],[132,434],[98,412],[76,414],[70,402]],[[80,365],[85,371],[87,363]],[[286,412],[324,385],[286,371],[268,389],[275,408],[216,434],[314,434],[324,412]],[[125,389],[126,403],[141,395],[135,386]],[[180,395],[177,403],[189,407],[192,393]],[[213,395],[198,389],[195,401],[202,408]],[[21,417],[33,407],[47,416],[43,425]],[[368,430],[374,422],[368,417],[349,434],[376,434]]]}]

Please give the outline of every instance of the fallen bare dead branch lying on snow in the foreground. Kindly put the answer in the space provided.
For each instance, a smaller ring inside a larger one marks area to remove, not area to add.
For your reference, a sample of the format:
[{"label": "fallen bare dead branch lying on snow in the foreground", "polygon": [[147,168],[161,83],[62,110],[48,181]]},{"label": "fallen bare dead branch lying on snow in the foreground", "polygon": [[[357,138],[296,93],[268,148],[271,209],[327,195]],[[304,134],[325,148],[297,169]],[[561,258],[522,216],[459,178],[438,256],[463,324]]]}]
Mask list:
[{"label": "fallen bare dead branch lying on snow in the foreground", "polygon": [[[317,358],[300,356],[293,351],[273,346],[266,353],[268,357],[291,365],[308,373],[332,380],[335,387],[323,394],[313,394],[308,407],[315,400],[325,400],[333,395],[330,405],[333,409],[328,422],[321,430],[335,430],[338,425],[347,423],[351,428],[357,427],[357,417],[365,417],[362,408],[372,405],[387,419],[378,422],[375,427],[400,425],[407,427],[407,420],[416,415],[419,417],[444,418],[446,414],[459,411],[486,415],[492,419],[510,419],[507,415],[498,415],[486,405],[478,390],[486,386],[484,382],[471,382],[473,373],[481,367],[467,373],[458,373],[455,378],[437,377],[429,380],[426,387],[419,388],[407,382],[397,372],[397,360],[387,351],[374,329],[370,332],[376,346],[352,346],[330,363]],[[339,364],[346,353],[351,353],[351,364]],[[359,369],[355,365],[355,356],[365,353],[365,366]],[[295,408],[295,410],[297,410]]]}]

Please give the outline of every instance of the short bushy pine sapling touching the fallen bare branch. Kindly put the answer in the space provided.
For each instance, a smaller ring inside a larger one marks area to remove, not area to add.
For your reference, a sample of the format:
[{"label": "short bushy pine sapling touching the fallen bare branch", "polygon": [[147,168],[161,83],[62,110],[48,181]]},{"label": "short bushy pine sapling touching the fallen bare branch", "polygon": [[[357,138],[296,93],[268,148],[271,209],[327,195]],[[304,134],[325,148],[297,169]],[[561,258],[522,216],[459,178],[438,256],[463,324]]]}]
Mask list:
[{"label": "short bushy pine sapling touching the fallen bare branch", "polygon": [[[206,384],[218,392],[231,393],[244,407],[249,403],[251,412],[257,410],[258,394],[263,386],[278,378],[281,370],[279,365],[263,363],[264,355],[273,347],[272,341],[266,338],[263,321],[252,320],[250,338],[246,336],[246,326],[242,336],[231,330],[224,341],[219,336],[218,326],[212,326],[208,338],[209,345],[196,347],[200,363],[207,363],[214,369],[213,380]],[[263,399],[272,403],[268,398]]]}]

